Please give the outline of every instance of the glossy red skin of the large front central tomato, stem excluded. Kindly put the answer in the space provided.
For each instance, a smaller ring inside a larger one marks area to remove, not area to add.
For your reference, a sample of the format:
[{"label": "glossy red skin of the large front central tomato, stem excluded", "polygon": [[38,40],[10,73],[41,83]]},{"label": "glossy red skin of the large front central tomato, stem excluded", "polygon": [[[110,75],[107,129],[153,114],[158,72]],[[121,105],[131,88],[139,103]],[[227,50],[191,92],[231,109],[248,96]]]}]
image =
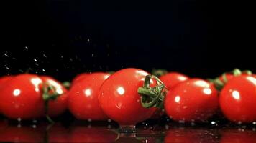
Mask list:
[{"label": "glossy red skin of the large front central tomato, stem excluded", "polygon": [[[142,107],[137,93],[146,75],[146,71],[131,68],[117,71],[106,79],[99,91],[99,103],[110,119],[121,125],[134,125],[152,116],[155,108]],[[150,86],[155,84],[152,80]]]}]

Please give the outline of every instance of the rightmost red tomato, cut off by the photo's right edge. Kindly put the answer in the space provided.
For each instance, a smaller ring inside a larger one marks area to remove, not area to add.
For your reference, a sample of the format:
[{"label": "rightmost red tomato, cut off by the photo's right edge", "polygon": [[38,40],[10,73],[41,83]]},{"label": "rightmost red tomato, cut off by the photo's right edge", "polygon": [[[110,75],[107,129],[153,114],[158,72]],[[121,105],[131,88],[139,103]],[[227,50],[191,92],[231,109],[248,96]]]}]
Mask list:
[{"label": "rightmost red tomato, cut off by the photo's right edge", "polygon": [[221,90],[221,111],[233,122],[256,121],[256,79],[242,75],[234,77]]}]

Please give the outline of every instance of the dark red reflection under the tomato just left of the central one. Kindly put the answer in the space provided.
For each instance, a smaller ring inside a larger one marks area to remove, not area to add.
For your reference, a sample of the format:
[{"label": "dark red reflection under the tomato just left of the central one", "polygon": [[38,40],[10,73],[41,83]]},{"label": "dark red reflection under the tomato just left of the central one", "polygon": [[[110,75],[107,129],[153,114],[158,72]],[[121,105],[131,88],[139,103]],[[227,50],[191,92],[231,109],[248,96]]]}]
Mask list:
[{"label": "dark red reflection under the tomato just left of the central one", "polygon": [[114,142],[117,135],[101,127],[76,127],[70,128],[68,142]]}]

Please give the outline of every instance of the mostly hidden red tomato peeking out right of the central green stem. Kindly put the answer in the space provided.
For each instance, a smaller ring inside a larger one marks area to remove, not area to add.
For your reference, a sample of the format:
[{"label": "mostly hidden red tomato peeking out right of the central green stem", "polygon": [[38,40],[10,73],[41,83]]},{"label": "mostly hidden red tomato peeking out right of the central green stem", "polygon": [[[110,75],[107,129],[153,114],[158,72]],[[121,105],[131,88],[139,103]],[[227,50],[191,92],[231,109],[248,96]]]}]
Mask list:
[{"label": "mostly hidden red tomato peeking out right of the central green stem", "polygon": [[170,90],[180,82],[186,81],[188,77],[178,72],[169,72],[160,77],[160,80],[165,84],[165,87]]}]

